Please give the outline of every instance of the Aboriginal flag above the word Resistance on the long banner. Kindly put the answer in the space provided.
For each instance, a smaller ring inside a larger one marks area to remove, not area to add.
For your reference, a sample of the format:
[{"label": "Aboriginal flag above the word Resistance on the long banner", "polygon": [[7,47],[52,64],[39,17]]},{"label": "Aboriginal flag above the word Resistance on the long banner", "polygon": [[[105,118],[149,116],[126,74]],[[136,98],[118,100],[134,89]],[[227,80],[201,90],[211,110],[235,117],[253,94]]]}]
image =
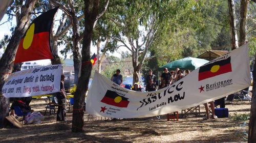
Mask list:
[{"label": "Aboriginal flag above the word Resistance on the long banner", "polygon": [[217,61],[199,68],[198,81],[214,77],[223,73],[231,72],[230,57],[226,60]]}]

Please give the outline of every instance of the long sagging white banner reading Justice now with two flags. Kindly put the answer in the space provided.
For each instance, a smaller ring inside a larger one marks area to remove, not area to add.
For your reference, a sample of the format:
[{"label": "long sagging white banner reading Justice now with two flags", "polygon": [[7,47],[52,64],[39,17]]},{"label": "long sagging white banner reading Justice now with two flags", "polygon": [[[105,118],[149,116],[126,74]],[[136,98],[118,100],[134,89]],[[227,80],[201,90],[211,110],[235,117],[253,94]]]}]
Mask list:
[{"label": "long sagging white banner reading Justice now with two flags", "polygon": [[248,45],[245,44],[155,92],[127,90],[95,73],[86,111],[111,118],[152,117],[210,102],[249,85]]}]

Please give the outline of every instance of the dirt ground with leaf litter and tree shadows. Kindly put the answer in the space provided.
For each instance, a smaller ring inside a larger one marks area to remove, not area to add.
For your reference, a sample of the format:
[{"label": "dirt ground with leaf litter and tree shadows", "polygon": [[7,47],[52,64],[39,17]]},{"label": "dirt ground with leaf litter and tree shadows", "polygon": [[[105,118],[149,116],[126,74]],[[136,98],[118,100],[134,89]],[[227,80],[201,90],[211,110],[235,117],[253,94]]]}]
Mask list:
[{"label": "dirt ground with leaf litter and tree shadows", "polygon": [[[33,99],[32,109],[45,111],[43,99]],[[234,113],[250,112],[249,101],[235,101],[226,105],[229,118],[203,120],[205,110],[201,105],[199,118],[191,115],[177,122],[156,117],[143,119],[101,120],[100,117],[88,121],[84,115],[84,132],[71,132],[72,113],[67,113],[66,122],[56,122],[56,113],[46,115],[41,124],[26,125],[24,128],[8,127],[0,129],[0,142],[238,142],[246,141],[243,132],[248,130],[248,122],[232,121]]]}]

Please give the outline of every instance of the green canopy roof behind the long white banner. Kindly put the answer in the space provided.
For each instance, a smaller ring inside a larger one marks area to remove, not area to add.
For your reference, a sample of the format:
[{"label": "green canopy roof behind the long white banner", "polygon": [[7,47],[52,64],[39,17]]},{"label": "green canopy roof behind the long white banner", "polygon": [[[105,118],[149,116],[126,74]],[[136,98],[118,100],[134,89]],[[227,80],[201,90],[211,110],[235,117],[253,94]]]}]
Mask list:
[{"label": "green canopy roof behind the long white banner", "polygon": [[195,70],[208,62],[209,61],[204,60],[204,59],[187,57],[187,58],[183,58],[180,60],[170,62],[170,63],[158,68],[158,70],[161,71],[164,68],[168,68],[169,70],[175,70],[176,68],[180,68],[181,70],[186,70],[186,69],[187,70]]}]

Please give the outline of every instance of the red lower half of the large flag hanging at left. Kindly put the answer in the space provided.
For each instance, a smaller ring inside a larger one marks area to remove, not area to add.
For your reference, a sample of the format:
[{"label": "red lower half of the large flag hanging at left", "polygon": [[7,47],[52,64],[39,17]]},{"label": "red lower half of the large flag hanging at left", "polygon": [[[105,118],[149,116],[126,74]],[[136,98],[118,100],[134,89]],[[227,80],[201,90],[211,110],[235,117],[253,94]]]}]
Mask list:
[{"label": "red lower half of the large flag hanging at left", "polygon": [[28,49],[23,48],[23,41],[24,39],[19,43],[14,63],[53,59],[50,50],[49,32],[34,34],[33,41]]}]

